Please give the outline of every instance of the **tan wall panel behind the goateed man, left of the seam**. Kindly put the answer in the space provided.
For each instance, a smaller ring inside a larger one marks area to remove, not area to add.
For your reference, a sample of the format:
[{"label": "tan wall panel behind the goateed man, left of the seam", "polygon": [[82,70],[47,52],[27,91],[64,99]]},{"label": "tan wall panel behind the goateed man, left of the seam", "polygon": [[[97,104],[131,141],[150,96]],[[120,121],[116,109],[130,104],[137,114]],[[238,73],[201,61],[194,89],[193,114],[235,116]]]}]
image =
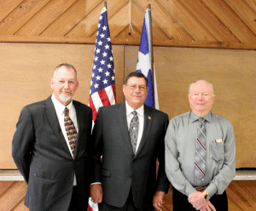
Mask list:
[{"label": "tan wall panel behind the goateed man, left of the seam", "polygon": [[[23,106],[44,100],[52,94],[49,78],[55,66],[70,63],[78,71],[79,89],[74,100],[88,105],[90,77],[95,45],[0,43],[2,85],[0,169],[16,168],[11,157],[11,142]],[[123,81],[124,47],[113,46],[117,101]]]}]

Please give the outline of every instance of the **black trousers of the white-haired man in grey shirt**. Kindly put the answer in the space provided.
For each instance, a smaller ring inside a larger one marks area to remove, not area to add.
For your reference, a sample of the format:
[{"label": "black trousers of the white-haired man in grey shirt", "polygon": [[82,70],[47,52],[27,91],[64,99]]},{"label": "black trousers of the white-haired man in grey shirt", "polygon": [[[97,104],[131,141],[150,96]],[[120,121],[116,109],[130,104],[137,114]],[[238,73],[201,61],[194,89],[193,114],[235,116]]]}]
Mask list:
[{"label": "black trousers of the white-haired man in grey shirt", "polygon": [[[173,211],[195,211],[192,204],[189,203],[188,197],[183,195],[180,191],[177,191],[172,187],[172,204]],[[213,195],[210,198],[210,202],[216,208],[217,211],[228,211],[228,197],[226,191],[222,195]]]}]

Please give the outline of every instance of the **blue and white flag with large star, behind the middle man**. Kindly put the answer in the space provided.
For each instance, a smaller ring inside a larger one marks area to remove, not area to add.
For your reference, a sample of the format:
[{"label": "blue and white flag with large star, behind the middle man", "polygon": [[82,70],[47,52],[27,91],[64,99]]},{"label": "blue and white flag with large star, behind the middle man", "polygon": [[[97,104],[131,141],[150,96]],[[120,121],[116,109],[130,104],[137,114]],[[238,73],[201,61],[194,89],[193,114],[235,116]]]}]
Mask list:
[{"label": "blue and white flag with large star, behind the middle man", "polygon": [[[155,74],[152,75],[152,67],[150,58],[150,46],[152,41],[150,39],[151,27],[149,25],[149,14],[148,9],[146,11],[143,21],[143,31],[141,37],[141,43],[137,58],[137,71],[144,74],[148,78],[148,95],[145,101],[145,105],[159,109],[158,94]],[[155,71],[154,71],[155,72]],[[154,77],[154,83],[152,78]]]}]

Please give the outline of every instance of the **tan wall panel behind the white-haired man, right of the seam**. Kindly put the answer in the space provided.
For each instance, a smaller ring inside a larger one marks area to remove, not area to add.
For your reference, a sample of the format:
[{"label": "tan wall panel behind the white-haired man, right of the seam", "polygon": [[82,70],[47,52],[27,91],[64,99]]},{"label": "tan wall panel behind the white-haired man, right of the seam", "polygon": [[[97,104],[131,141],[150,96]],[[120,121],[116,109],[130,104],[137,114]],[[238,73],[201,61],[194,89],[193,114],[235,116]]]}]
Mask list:
[{"label": "tan wall panel behind the white-haired man, right of the seam", "polygon": [[[137,51],[138,47],[125,47],[125,75],[136,70]],[[212,112],[234,127],[236,168],[256,167],[255,57],[254,51],[246,50],[154,48],[160,110],[170,119],[189,111],[189,84],[198,78],[213,83]]]}]

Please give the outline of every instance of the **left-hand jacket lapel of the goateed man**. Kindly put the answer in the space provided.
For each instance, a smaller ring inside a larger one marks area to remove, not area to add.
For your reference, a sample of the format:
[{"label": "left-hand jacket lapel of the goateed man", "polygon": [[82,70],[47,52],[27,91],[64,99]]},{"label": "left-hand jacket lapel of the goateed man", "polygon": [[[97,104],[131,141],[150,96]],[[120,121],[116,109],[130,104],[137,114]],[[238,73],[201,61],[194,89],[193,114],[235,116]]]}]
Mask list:
[{"label": "left-hand jacket lapel of the goateed man", "polygon": [[49,96],[49,98],[45,100],[45,103],[46,103],[45,112],[46,112],[46,116],[48,117],[49,125],[52,128],[55,136],[57,137],[57,140],[59,140],[62,148],[67,152],[68,155],[70,155],[70,157],[72,157],[67,147],[67,142],[62,134],[59,120],[56,115],[55,106],[53,105],[53,102],[51,100],[51,96]]}]

